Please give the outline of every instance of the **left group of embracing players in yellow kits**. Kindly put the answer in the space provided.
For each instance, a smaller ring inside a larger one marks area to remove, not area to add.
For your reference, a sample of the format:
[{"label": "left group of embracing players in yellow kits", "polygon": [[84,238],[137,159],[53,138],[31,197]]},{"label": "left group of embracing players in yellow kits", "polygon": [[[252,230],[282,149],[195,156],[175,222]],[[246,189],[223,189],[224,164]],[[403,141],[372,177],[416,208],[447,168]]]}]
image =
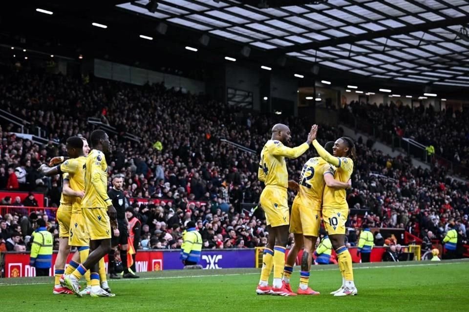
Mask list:
[{"label": "left group of embracing players in yellow kits", "polygon": [[[111,250],[111,231],[117,229],[116,209],[107,195],[105,153],[109,151],[109,138],[103,130],[95,130],[90,141],[91,152],[85,138],[69,137],[66,141],[69,158],[55,157],[49,165],[62,164],[53,167],[43,164],[40,168],[46,176],[62,175],[64,181],[57,210],[60,238],[54,294],[115,295],[107,284],[104,262],[105,254]],[[64,269],[70,247],[76,247],[78,251]],[[80,291],[82,276],[85,276],[87,287]]]}]

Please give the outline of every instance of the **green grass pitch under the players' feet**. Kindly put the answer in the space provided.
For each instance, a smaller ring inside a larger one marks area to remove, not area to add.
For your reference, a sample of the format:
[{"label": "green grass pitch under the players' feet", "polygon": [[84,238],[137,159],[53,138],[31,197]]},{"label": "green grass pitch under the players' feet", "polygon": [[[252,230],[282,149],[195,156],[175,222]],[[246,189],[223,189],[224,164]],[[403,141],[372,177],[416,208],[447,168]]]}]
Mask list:
[{"label": "green grass pitch under the players' feet", "polygon": [[[298,288],[298,267],[292,288]],[[354,265],[359,294],[333,297],[337,266],[313,266],[310,285],[319,296],[256,295],[260,270],[185,270],[142,273],[110,280],[115,297],[53,295],[52,278],[0,279],[1,311],[467,311],[469,261]]]}]

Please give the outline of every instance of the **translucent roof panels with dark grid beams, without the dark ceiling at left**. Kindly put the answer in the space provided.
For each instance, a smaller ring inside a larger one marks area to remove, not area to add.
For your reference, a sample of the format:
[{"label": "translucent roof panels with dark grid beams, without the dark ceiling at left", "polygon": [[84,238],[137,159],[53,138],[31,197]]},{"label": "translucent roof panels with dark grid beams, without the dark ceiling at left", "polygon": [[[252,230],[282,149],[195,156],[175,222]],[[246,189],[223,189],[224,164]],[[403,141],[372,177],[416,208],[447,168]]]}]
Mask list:
[{"label": "translucent roof panels with dark grid beams, without the dark ceiling at left", "polygon": [[459,34],[468,26],[469,1],[329,0],[265,8],[269,2],[289,1],[158,0],[156,6],[139,0],[117,6],[369,78],[469,87],[469,38]]}]

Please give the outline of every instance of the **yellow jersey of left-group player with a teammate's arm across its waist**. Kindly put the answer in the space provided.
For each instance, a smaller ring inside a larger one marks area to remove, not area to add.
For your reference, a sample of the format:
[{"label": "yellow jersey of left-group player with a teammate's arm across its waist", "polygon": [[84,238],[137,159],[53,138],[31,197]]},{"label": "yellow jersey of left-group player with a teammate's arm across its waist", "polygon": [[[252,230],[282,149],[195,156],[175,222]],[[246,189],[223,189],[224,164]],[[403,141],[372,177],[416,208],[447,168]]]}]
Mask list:
[{"label": "yellow jersey of left-group player with a teammate's arm across its waist", "polygon": [[[70,158],[66,160],[62,165],[60,165],[60,170],[68,174],[68,180],[70,181],[70,188],[74,191],[84,191],[85,190],[85,170],[83,165],[85,165],[86,157],[80,156],[77,158]],[[72,214],[77,214],[82,212],[80,197],[71,197],[72,199]]]}]

